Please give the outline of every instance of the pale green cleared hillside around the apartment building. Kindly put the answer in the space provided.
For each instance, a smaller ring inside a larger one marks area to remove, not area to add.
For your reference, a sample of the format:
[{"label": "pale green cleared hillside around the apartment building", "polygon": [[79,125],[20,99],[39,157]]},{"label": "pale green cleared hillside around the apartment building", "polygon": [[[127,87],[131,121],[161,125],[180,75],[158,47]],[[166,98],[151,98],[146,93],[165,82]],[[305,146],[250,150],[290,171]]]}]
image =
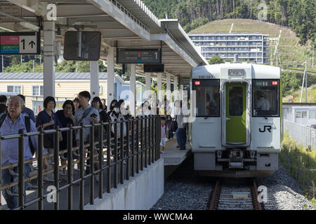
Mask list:
[{"label": "pale green cleared hillside around the apartment building", "polygon": [[[310,51],[310,45],[301,45],[298,43],[299,38],[294,31],[287,27],[281,27],[279,25],[272,24],[270,22],[261,22],[258,20],[247,19],[228,19],[228,20],[216,20],[209,22],[208,24],[199,27],[190,32],[190,34],[207,34],[207,33],[229,33],[230,27],[234,23],[232,32],[234,33],[261,33],[268,34],[270,37],[279,36],[279,30],[282,30],[280,42],[279,42],[279,56],[282,62],[282,68],[294,68],[301,70],[295,71],[282,71],[282,83],[284,102],[287,102],[289,94],[294,94],[295,102],[299,102],[300,87],[303,81],[303,68],[298,65],[303,65],[305,60],[308,61],[308,87],[316,83],[316,66],[311,67],[312,64],[312,52]],[[274,46],[270,47],[270,52],[274,52]],[[316,62],[315,62],[316,64]],[[274,66],[276,61],[274,61]],[[316,92],[308,92],[308,102],[316,102]],[[305,93],[304,98],[305,100]]]}]

